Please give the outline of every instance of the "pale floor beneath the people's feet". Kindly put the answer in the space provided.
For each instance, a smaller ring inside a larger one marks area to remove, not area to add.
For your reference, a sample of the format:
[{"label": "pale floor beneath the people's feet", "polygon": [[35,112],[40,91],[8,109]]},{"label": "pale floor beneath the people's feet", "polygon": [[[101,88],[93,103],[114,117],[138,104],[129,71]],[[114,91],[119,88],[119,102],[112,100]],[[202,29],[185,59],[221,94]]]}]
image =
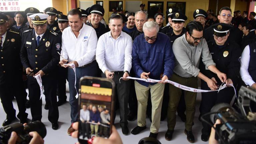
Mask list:
[{"label": "pale floor beneath the people's feet", "polygon": [[[67,96],[69,98],[69,93],[67,93]],[[200,104],[200,99],[201,99],[201,94],[198,93],[197,95],[197,105],[196,105],[196,115],[195,115],[195,119],[194,119],[194,123],[195,125],[193,126],[193,134],[196,138],[196,142],[197,144],[206,144],[207,142],[203,142],[201,141],[201,129],[202,129],[202,125],[201,123],[198,121],[198,116],[199,116],[199,104]],[[18,110],[17,107],[17,103],[16,101],[13,101],[14,107],[16,110]],[[44,109],[44,104],[45,104],[45,100],[43,97],[43,106],[42,106],[42,122],[45,124],[46,129],[47,129],[47,135],[44,138],[45,144],[73,144],[75,142],[77,142],[77,139],[74,139],[70,136],[67,135],[67,129],[70,126],[70,105],[69,103],[66,103],[62,106],[59,107],[59,129],[58,130],[53,130],[51,128],[51,123],[48,121],[48,111]],[[30,109],[27,109],[26,111],[27,113],[29,113],[28,118],[31,120],[31,113],[30,113]],[[17,112],[16,112],[17,114]],[[2,122],[5,120],[6,118],[6,114],[3,110],[2,105],[0,106],[0,123],[2,124]],[[116,120],[115,120],[115,126],[122,138],[122,141],[124,144],[137,144],[139,142],[140,139],[144,138],[144,137],[148,137],[149,136],[149,127],[150,127],[150,121],[147,118],[147,129],[144,130],[143,132],[141,132],[138,135],[132,135],[129,134],[128,136],[125,136],[122,134],[120,125],[119,125],[119,115],[117,115]],[[19,122],[17,120],[17,122]],[[133,122],[129,122],[129,129],[130,131],[137,125],[136,121]],[[175,131],[173,134],[173,140],[172,141],[166,141],[164,138],[165,132],[167,130],[167,121],[161,121],[160,124],[160,130],[159,130],[159,134],[158,134],[158,140],[162,143],[162,144],[171,144],[171,143],[179,143],[179,144],[185,144],[185,143],[189,143],[186,139],[186,135],[184,134],[184,128],[185,125],[184,123],[179,119],[179,117],[177,117],[177,123],[176,123],[176,127],[175,127]]]}]

